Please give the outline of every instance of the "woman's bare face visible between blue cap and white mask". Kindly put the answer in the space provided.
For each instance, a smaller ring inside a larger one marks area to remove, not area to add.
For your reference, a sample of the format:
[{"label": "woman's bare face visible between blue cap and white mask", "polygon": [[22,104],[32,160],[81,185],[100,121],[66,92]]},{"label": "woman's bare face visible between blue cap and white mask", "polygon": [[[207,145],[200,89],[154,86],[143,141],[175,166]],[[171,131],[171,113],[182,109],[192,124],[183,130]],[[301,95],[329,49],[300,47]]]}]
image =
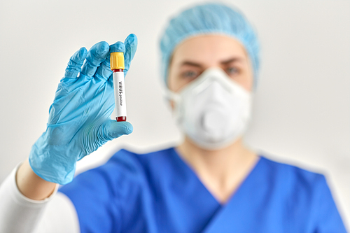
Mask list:
[{"label": "woman's bare face visible between blue cap and white mask", "polygon": [[251,62],[234,38],[204,35],[189,38],[175,50],[169,64],[168,87],[179,92],[210,67],[220,67],[249,92],[253,87]]}]

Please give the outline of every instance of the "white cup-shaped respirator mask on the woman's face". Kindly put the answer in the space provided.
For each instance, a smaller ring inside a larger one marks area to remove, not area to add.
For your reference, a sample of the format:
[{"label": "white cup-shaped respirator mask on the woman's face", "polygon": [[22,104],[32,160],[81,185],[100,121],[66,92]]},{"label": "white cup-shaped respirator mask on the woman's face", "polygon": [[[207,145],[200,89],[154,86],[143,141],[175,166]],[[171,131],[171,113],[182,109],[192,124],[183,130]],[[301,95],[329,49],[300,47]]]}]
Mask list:
[{"label": "white cup-shaped respirator mask on the woman's face", "polygon": [[179,93],[167,90],[167,97],[181,130],[207,150],[237,141],[251,118],[251,92],[220,68],[205,70]]}]

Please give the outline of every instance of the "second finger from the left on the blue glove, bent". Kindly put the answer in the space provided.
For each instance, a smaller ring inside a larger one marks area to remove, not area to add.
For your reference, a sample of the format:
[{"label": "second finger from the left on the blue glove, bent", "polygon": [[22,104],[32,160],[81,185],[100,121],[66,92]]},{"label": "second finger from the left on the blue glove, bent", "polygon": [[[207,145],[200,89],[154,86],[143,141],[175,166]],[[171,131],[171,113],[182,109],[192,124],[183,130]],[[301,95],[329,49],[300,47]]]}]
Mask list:
[{"label": "second finger from the left on the blue glove, bent", "polygon": [[109,44],[105,41],[96,43],[87,52],[87,57],[81,69],[81,73],[85,76],[92,77],[109,53]]}]

